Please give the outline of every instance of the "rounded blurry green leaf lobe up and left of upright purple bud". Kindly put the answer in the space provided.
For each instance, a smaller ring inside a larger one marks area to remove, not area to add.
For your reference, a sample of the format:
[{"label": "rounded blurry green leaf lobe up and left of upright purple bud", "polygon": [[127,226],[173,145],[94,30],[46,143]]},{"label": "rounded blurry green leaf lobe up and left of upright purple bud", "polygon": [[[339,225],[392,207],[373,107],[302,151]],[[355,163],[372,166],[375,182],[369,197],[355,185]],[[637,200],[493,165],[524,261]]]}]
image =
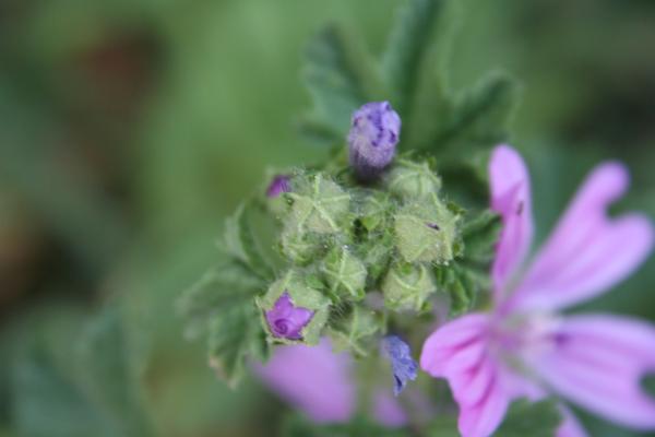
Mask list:
[{"label": "rounded blurry green leaf lobe up and left of upright purple bud", "polygon": [[302,129],[332,142],[344,141],[355,109],[383,95],[374,62],[360,39],[336,26],[311,40],[305,78],[313,107]]}]

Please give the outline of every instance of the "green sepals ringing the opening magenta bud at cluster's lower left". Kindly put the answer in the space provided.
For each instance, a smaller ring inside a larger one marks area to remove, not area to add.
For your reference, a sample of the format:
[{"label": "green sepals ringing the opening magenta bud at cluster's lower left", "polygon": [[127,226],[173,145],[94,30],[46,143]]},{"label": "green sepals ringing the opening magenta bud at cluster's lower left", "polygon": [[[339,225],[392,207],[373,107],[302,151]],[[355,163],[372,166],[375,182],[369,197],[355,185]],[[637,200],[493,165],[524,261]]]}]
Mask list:
[{"label": "green sepals ringing the opening magenta bud at cluster's lower left", "polygon": [[[255,298],[257,305],[260,308],[262,326],[269,334],[270,342],[285,344],[305,343],[310,345],[319,343],[321,332],[330,316],[331,300],[322,292],[312,287],[315,285],[317,281],[313,280],[311,275],[307,276],[295,270],[289,270],[282,279],[271,284],[269,291],[263,296],[258,296]],[[314,311],[311,320],[302,328],[302,331],[300,331],[302,336],[301,340],[289,340],[275,336],[269,328],[265,312],[275,306],[277,299],[285,292],[289,294],[289,297],[296,307],[302,307]]]}]

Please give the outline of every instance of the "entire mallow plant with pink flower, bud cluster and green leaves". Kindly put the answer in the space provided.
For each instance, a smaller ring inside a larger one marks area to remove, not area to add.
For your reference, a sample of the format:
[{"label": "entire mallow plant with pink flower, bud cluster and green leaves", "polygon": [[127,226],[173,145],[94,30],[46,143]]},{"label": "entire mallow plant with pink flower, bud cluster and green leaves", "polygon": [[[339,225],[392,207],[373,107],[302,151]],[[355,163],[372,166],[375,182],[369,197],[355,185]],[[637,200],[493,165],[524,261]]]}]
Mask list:
[{"label": "entire mallow plant with pink flower, bud cluster and green leaves", "polygon": [[188,334],[228,385],[251,375],[293,406],[294,435],[584,436],[569,402],[655,429],[655,328],[561,315],[651,251],[646,217],[607,216],[628,173],[597,167],[531,257],[527,169],[498,145],[515,86],[444,85],[449,4],[408,1],[380,59],[338,27],[311,42],[301,127],[330,152],[226,221],[179,300]]}]

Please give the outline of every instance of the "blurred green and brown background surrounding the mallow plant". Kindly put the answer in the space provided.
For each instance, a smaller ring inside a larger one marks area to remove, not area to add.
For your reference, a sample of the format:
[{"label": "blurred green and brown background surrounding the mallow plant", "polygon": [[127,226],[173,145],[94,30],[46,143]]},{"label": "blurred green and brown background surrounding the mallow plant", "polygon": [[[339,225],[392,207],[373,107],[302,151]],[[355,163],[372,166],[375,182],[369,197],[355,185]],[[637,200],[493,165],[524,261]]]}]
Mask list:
[{"label": "blurred green and brown background surrounding the mallow plant", "polygon": [[[285,406],[218,381],[175,299],[266,167],[325,154],[296,129],[308,39],[341,22],[379,52],[398,3],[0,1],[0,436],[274,434]],[[655,2],[458,16],[451,85],[490,69],[523,85],[539,237],[603,158],[633,174],[617,210],[655,216]],[[593,306],[655,321],[654,284],[651,259]]]}]

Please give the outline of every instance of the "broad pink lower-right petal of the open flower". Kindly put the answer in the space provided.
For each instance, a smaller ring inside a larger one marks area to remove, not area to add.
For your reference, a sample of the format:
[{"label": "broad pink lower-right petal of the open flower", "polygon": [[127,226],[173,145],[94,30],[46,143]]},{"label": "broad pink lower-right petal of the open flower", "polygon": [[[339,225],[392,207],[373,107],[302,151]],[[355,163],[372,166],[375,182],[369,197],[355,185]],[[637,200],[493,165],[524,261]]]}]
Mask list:
[{"label": "broad pink lower-right petal of the open flower", "polygon": [[564,319],[556,346],[531,366],[555,391],[623,426],[655,429],[655,399],[640,386],[655,370],[655,327],[614,316]]}]

